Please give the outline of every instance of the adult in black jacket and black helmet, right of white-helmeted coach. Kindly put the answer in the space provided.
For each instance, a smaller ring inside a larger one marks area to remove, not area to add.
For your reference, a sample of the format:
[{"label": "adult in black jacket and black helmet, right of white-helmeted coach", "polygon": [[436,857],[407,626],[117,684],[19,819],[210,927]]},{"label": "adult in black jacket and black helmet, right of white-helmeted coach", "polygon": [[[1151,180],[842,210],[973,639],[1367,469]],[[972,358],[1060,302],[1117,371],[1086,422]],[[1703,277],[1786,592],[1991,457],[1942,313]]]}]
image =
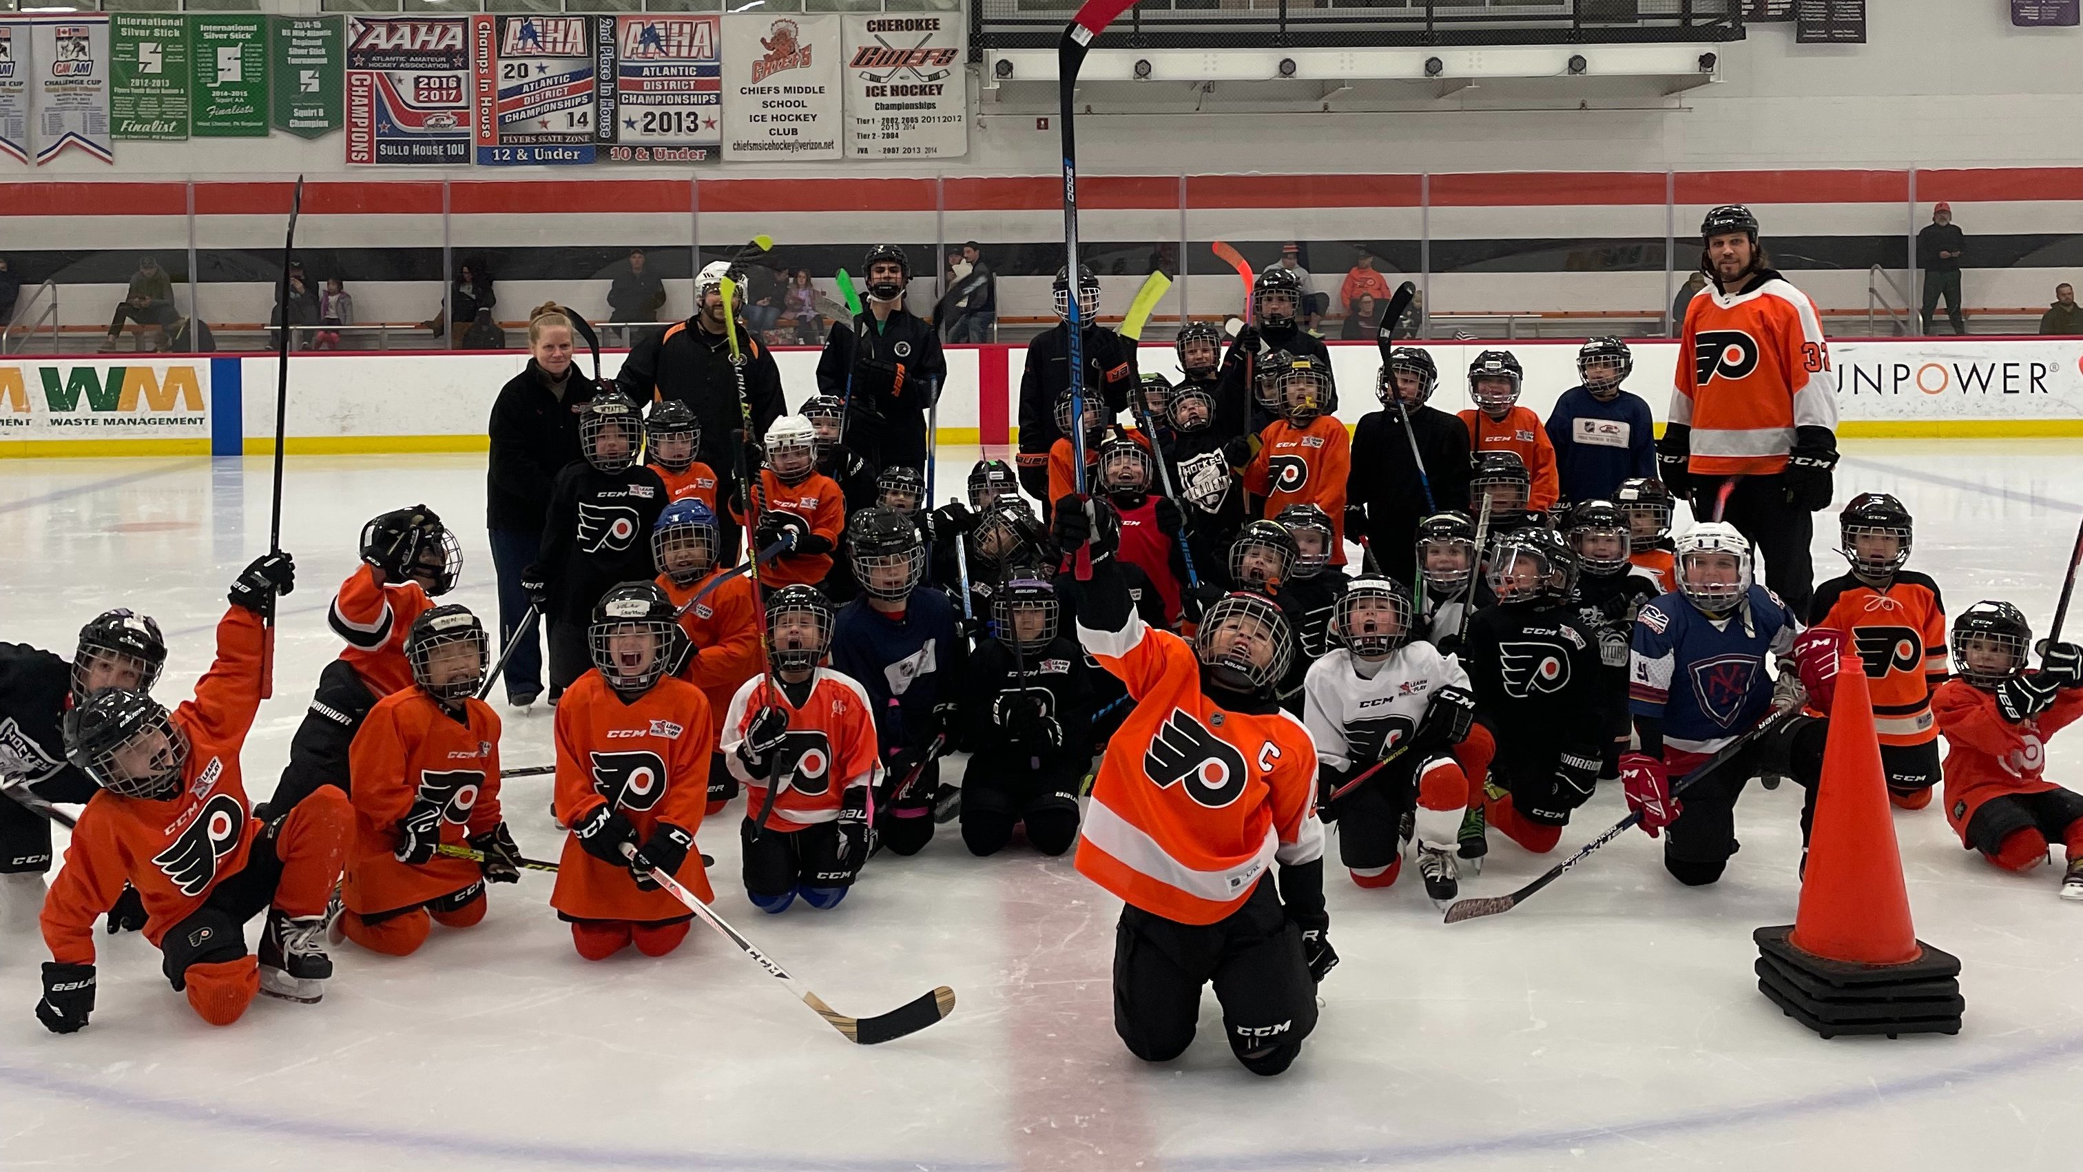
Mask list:
[{"label": "adult in black jacket and black helmet, right of white-helmeted coach", "polygon": [[877,244],[862,271],[867,307],[852,321],[831,323],[825,357],[817,361],[817,392],[846,402],[846,446],[871,467],[925,471],[925,409],[948,382],[948,359],[933,327],[904,309],[910,286],[904,250]]}]

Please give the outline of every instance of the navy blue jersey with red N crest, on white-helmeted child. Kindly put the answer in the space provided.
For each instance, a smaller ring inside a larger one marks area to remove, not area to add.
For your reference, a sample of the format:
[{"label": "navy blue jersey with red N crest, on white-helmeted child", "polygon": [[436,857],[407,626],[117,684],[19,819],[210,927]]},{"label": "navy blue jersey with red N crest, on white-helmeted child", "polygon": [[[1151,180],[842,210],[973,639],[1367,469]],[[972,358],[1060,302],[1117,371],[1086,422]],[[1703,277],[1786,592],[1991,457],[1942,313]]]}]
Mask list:
[{"label": "navy blue jersey with red N crest, on white-helmeted child", "polygon": [[1750,588],[1743,611],[1710,619],[1671,592],[1635,615],[1627,703],[1662,719],[1666,747],[1714,753],[1773,707],[1766,659],[1791,653],[1802,626],[1764,586]]}]

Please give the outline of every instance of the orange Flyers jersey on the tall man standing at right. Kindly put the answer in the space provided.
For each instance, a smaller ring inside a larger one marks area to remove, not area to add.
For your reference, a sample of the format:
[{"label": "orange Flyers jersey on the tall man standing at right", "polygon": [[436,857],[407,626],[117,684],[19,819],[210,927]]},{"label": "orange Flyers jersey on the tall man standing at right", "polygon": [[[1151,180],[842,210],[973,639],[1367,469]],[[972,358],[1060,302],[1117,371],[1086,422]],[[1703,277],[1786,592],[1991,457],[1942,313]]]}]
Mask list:
[{"label": "orange Flyers jersey on the tall man standing at right", "polygon": [[1837,371],[1808,294],[1760,273],[1737,294],[1712,284],[1685,304],[1671,421],[1691,428],[1700,475],[1787,467],[1796,428],[1837,428]]}]

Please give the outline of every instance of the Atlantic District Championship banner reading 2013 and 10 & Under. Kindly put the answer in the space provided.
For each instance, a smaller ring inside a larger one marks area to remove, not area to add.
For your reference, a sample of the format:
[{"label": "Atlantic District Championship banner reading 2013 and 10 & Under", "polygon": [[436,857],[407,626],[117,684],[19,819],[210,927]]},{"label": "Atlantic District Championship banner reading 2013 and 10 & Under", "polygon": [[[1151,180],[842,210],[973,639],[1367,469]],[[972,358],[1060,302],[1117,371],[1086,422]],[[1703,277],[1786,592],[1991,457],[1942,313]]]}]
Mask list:
[{"label": "Atlantic District Championship banner reading 2013 and 10 & Under", "polygon": [[596,142],[608,163],[717,163],[723,58],[717,17],[594,17],[602,86]]}]

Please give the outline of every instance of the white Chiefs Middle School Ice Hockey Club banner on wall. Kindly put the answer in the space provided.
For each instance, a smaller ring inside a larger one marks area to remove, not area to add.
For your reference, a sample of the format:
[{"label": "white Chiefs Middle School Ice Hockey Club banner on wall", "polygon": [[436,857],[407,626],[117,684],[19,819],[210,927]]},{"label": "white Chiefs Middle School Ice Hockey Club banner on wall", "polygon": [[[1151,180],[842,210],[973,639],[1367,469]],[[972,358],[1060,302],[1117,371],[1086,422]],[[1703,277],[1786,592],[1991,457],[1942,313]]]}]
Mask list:
[{"label": "white Chiefs Middle School Ice Hockey Club banner on wall", "polygon": [[723,19],[723,150],[839,158],[839,17]]}]

